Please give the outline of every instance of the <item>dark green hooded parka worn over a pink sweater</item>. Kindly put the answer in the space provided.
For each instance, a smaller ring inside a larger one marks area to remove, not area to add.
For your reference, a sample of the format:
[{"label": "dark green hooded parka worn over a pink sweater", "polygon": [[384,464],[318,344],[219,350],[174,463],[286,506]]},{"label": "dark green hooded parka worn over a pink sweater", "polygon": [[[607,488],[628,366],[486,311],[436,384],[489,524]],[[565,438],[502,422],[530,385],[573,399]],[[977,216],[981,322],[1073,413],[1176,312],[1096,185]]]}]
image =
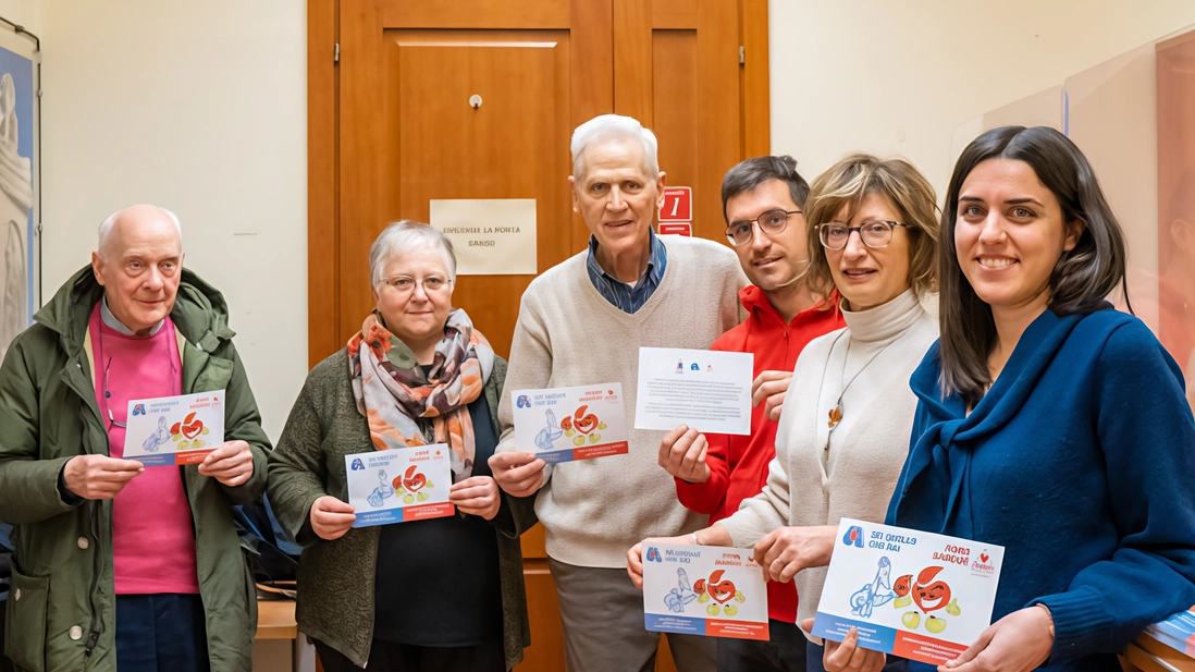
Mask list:
[{"label": "dark green hooded parka worn over a pink sweater", "polygon": [[[16,526],[5,653],[30,672],[117,668],[112,502],[67,503],[57,488],[72,457],[108,454],[87,336],[102,297],[91,267],[76,273],[13,340],[0,366],[0,520]],[[232,344],[223,297],[183,269],[171,318],[183,392],[227,390],[225,439],[247,441],[253,451],[253,476],[235,488],[201,476],[195,465],[182,468],[212,670],[250,672],[257,595],[232,507],[261,496],[270,444]]]}]

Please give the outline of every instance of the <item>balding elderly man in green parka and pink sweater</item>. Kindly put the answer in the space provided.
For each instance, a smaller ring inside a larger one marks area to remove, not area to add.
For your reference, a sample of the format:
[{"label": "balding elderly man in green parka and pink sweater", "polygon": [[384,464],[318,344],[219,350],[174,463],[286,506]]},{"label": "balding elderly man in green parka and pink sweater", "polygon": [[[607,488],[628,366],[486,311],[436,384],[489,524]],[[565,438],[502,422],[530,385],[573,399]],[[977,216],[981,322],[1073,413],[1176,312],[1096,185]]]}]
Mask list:
[{"label": "balding elderly man in green parka and pink sweater", "polygon": [[[249,672],[257,600],[233,506],[261,495],[270,446],[227,305],[183,269],[178,218],[106,219],[35,320],[0,367],[6,654],[32,672]],[[225,442],[202,464],[121,459],[129,401],[217,390]]]}]

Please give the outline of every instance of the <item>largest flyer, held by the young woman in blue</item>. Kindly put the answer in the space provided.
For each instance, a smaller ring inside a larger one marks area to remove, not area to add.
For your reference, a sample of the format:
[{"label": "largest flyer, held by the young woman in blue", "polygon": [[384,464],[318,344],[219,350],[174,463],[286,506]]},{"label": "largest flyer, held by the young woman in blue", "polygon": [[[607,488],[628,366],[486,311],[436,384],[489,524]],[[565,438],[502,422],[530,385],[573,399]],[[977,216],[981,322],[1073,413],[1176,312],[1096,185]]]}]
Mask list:
[{"label": "largest flyer, held by the young woman in blue", "polygon": [[1004,548],[844,518],[813,634],[939,665],[992,624]]}]

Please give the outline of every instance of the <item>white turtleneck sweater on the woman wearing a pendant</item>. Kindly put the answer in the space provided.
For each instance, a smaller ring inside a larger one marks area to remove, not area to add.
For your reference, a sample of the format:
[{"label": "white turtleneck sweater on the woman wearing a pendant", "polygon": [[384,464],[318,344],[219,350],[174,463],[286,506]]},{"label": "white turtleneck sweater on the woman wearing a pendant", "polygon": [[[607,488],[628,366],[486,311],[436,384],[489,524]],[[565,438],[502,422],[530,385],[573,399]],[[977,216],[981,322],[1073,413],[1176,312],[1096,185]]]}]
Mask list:
[{"label": "white turtleneck sweater on the woman wearing a pendant", "polygon": [[[752,548],[783,526],[884,520],[917,409],[908,379],[938,338],[938,322],[912,289],[842,316],[845,329],[811,341],[797,359],[767,485],[719,521],[735,546]],[[842,417],[831,432],[829,411],[839,395]],[[817,611],[826,568],[805,569],[793,580],[799,623]]]}]

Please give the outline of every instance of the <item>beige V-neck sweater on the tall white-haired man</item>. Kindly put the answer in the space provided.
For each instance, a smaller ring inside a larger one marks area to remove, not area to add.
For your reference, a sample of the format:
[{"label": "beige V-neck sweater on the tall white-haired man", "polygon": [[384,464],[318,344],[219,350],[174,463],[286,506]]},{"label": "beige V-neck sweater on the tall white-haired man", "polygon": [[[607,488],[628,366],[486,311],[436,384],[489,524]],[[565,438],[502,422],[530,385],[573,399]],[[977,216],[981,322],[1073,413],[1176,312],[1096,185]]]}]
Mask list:
[{"label": "beige V-neck sweater on the tall white-haired man", "polygon": [[621,383],[630,429],[627,454],[549,469],[535,513],[547,555],[581,567],[620,568],[646,537],[700,530],[705,515],[676,501],[673,478],[656,458],[663,432],[635,429],[639,347],[709,348],[739,323],[747,279],[733,251],[697,238],[663,236],[668,265],[636,313],[614,307],[586,271],[588,251],[552,267],[523,293],[510,346],[507,393],[498,407],[498,451],[515,450],[510,392]]}]

